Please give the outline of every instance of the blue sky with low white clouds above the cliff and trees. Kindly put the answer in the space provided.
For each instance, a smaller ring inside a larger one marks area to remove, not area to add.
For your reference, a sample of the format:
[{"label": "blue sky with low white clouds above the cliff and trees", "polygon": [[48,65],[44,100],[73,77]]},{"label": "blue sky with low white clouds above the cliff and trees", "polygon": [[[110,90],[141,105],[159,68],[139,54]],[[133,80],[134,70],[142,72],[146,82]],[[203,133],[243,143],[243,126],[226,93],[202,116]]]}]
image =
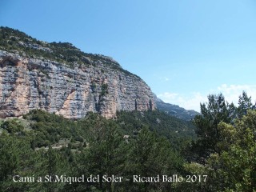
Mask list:
[{"label": "blue sky with low white clouds above the cliff and trees", "polygon": [[0,26],[71,42],[138,74],[165,102],[256,99],[254,0],[2,0]]}]

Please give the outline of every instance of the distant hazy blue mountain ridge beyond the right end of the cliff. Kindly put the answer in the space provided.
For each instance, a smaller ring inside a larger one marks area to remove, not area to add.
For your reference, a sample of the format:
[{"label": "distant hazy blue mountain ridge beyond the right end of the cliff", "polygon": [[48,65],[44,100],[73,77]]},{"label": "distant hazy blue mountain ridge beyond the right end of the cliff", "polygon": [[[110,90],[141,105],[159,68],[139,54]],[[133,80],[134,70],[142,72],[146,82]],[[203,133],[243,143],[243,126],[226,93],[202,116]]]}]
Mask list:
[{"label": "distant hazy blue mountain ridge beyond the right end of the cliff", "polygon": [[178,105],[163,102],[160,98],[156,98],[155,102],[158,110],[165,111],[167,114],[173,115],[176,118],[181,118],[186,121],[190,121],[194,118],[195,115],[200,114],[195,110],[185,110]]}]

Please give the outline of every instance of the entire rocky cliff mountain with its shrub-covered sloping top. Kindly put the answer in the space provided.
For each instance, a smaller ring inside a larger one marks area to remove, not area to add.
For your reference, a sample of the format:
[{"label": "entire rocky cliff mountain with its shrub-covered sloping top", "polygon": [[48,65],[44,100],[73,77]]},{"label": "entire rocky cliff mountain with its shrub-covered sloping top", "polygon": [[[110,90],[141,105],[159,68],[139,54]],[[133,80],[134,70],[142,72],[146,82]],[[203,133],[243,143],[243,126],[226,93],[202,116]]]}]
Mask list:
[{"label": "entire rocky cliff mountain with its shrub-covered sloping top", "polygon": [[65,118],[89,111],[154,110],[154,94],[112,58],[86,54],[70,43],[41,42],[0,29],[0,118],[42,109]]}]

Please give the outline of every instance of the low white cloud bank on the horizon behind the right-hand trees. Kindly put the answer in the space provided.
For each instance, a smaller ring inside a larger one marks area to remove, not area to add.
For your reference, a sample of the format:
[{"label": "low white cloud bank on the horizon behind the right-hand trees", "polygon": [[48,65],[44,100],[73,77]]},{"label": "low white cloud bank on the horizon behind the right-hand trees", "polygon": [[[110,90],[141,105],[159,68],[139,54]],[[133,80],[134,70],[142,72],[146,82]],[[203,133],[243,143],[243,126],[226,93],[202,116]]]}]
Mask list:
[{"label": "low white cloud bank on the horizon behind the right-hand trees", "polygon": [[207,102],[208,94],[219,94],[222,93],[227,102],[238,103],[238,97],[242,94],[242,91],[246,91],[248,96],[251,96],[251,100],[254,103],[256,101],[256,85],[226,85],[222,84],[215,89],[211,89],[207,94],[200,92],[194,92],[190,95],[182,95],[177,93],[166,92],[158,94],[158,98],[162,101],[175,104],[185,108],[186,110],[196,110],[200,112],[200,103]]}]

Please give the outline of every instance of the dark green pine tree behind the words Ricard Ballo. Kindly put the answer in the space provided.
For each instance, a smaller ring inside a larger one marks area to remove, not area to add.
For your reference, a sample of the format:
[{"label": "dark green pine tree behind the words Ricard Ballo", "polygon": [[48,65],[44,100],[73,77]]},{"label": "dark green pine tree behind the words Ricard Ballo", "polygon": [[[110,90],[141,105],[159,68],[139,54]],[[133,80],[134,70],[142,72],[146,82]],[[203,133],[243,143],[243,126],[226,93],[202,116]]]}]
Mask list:
[{"label": "dark green pine tree behind the words Ricard Ballo", "polygon": [[[178,167],[182,166],[182,158],[175,153],[166,138],[157,137],[154,132],[143,127],[136,139],[131,142],[131,154],[129,166],[132,175],[142,177],[157,176],[164,174],[178,174]],[[132,181],[132,177],[130,181]],[[169,183],[142,182],[130,183],[132,191],[170,191]]]}]

